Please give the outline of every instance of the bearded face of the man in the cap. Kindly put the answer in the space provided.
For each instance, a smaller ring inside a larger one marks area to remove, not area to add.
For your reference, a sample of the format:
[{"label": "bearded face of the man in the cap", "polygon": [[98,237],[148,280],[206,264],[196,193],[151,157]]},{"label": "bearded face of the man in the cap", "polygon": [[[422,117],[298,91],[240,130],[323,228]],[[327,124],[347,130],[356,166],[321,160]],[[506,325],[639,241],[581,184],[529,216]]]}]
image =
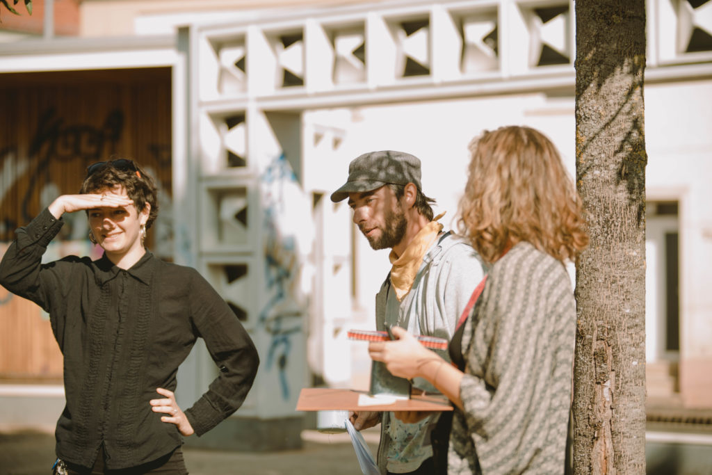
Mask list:
[{"label": "bearded face of the man in the cap", "polygon": [[393,248],[403,240],[408,221],[390,187],[349,193],[349,206],[354,212],[354,223],[366,236],[372,249]]}]

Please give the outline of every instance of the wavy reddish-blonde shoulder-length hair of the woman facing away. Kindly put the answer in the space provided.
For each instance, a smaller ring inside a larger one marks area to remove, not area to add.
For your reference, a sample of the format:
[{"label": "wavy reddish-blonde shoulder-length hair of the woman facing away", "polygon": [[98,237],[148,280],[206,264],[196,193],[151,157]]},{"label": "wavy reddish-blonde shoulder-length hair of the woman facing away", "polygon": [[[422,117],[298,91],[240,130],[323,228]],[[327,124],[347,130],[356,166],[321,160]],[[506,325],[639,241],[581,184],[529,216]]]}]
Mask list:
[{"label": "wavy reddish-blonde shoulder-length hair of the woman facing away", "polygon": [[459,229],[488,263],[527,241],[559,261],[588,244],[581,199],[559,152],[529,127],[485,131],[469,145]]}]

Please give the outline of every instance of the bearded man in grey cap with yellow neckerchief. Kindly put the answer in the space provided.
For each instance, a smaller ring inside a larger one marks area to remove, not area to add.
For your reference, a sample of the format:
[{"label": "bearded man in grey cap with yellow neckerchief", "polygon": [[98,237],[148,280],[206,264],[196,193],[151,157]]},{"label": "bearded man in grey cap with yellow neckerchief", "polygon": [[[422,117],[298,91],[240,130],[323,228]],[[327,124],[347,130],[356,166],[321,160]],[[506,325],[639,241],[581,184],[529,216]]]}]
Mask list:
[{"label": "bearded man in grey cap with yellow neckerchief", "polygon": [[[348,198],[353,221],[371,247],[391,249],[392,268],[376,296],[377,330],[397,325],[414,335],[450,340],[484,268],[466,240],[442,231],[438,220],[444,213],[433,218],[434,200],[423,194],[420,179],[417,157],[393,150],[369,152],[352,160],[347,182],[331,200]],[[438,353],[449,360],[446,351]],[[374,379],[385,377],[383,372],[392,378],[379,365],[372,367],[372,387]],[[416,379],[413,386],[436,392],[425,380]],[[392,412],[361,411],[351,420],[358,430],[381,422],[377,461],[382,473],[436,474],[445,469],[435,466],[431,446],[438,417],[435,413],[407,424]]]}]

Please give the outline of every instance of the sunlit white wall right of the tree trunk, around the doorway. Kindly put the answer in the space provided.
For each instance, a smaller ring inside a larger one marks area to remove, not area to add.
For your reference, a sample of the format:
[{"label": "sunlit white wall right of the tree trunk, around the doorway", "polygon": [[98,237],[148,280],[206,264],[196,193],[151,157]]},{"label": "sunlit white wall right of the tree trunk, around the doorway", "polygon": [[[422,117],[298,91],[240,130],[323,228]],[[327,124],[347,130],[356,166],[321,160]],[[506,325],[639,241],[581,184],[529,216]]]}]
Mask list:
[{"label": "sunlit white wall right of the tree trunk, around the doorway", "polygon": [[712,357],[712,80],[649,84],[649,200],[679,199],[681,359]]}]

